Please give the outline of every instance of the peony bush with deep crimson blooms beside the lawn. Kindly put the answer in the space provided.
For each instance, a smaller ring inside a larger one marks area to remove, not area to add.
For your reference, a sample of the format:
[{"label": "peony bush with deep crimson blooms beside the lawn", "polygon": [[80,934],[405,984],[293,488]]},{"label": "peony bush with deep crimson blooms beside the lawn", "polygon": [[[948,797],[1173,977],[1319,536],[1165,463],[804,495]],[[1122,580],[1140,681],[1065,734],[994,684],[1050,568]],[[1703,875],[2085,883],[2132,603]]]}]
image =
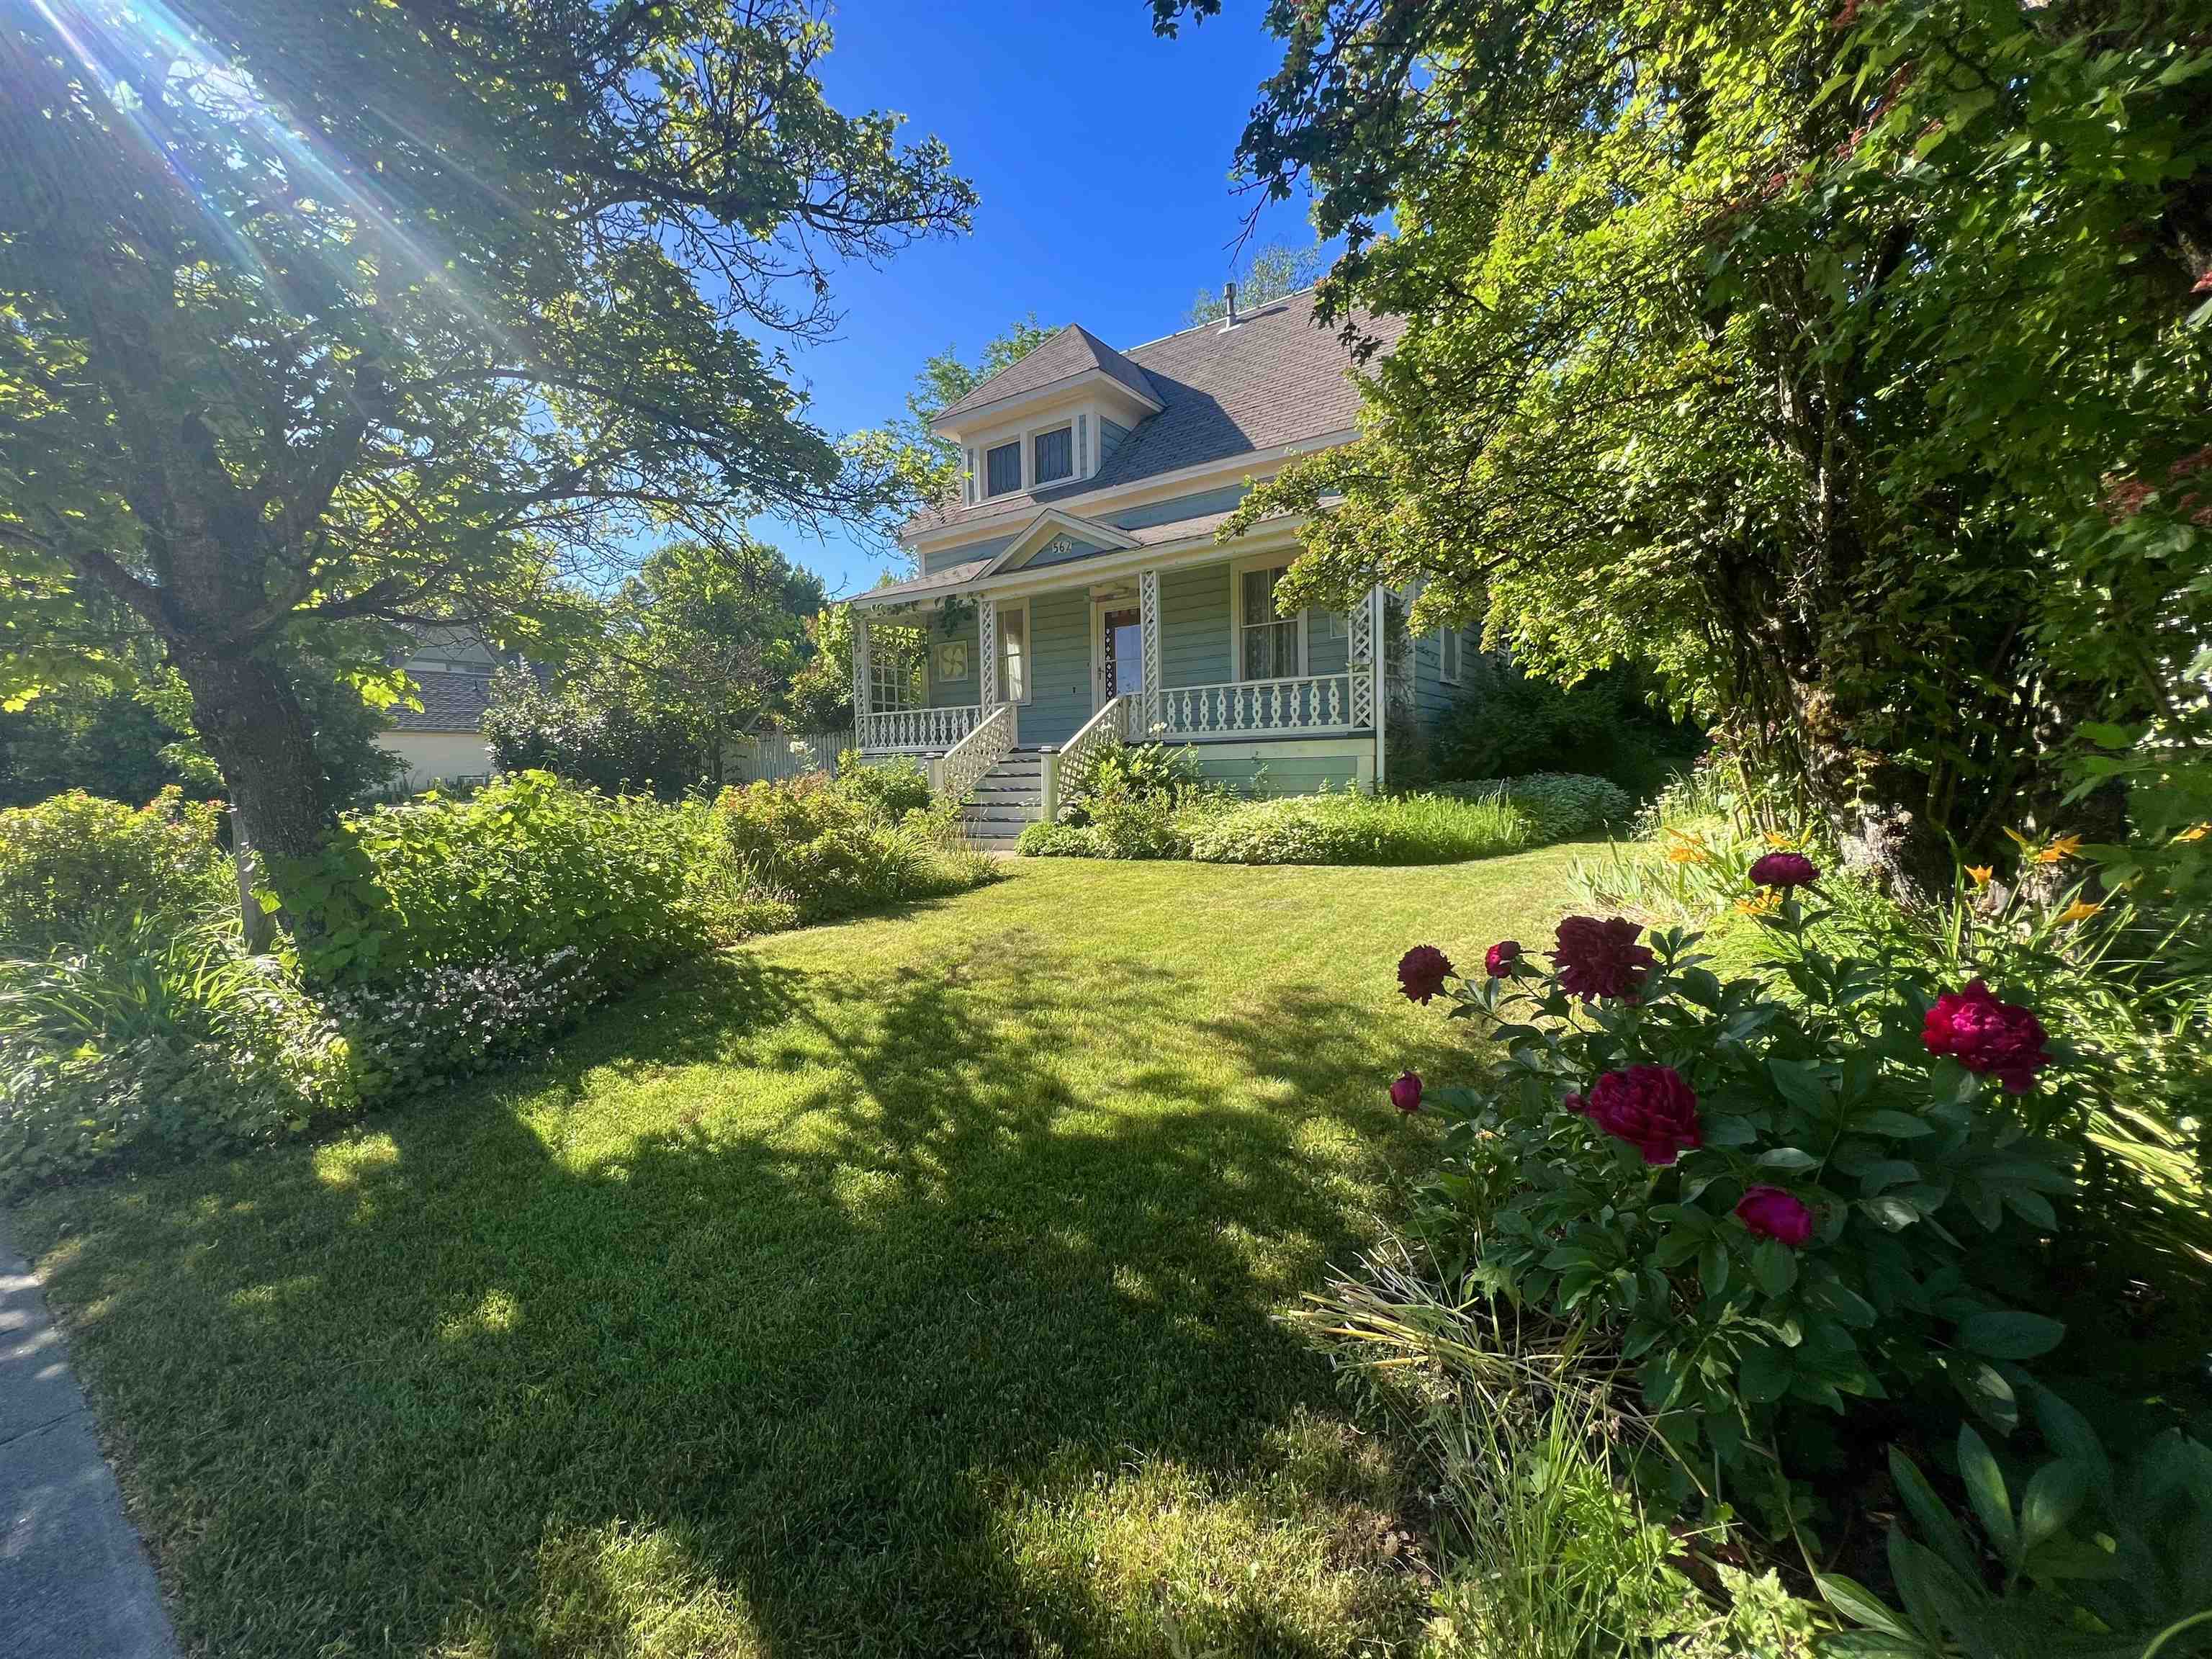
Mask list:
[{"label": "peony bush with deep crimson blooms beside the lawn", "polygon": [[1991,1270],[2057,1225],[2070,1177],[2004,1088],[2048,1088],[2064,1057],[1986,989],[1823,953],[1801,885],[1765,911],[1787,1000],[1723,984],[1694,933],[1617,918],[1562,922],[1551,967],[1400,962],[1409,998],[1442,993],[1504,1053],[1427,1091],[1453,1119],[1429,1192],[1447,1270],[1601,1329],[1686,1464],[1754,1502],[1774,1498],[1756,1449],[1792,1464],[1807,1409],[1947,1380],[2008,1422],[2017,1363],[2064,1334]]}]

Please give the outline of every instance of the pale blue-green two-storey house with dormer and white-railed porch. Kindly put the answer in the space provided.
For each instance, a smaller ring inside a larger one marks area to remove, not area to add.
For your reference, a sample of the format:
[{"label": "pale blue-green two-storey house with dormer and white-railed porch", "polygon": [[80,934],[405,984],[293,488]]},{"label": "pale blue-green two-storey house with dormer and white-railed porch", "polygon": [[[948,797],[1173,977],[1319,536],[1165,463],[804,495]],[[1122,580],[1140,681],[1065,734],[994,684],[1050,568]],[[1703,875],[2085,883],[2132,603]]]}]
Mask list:
[{"label": "pale blue-green two-storey house with dormer and white-railed porch", "polygon": [[[1113,734],[1190,743],[1241,790],[1387,779],[1378,712],[1431,723],[1473,639],[1378,650],[1402,617],[1380,588],[1279,615],[1298,520],[1214,540],[1254,482],[1356,436],[1349,369],[1307,292],[1128,352],[1064,327],[947,407],[960,495],[905,526],[918,577],[854,599],[860,750],[929,757],[982,838],[1048,814],[1068,754]],[[920,706],[869,650],[887,624],[925,628]]]}]

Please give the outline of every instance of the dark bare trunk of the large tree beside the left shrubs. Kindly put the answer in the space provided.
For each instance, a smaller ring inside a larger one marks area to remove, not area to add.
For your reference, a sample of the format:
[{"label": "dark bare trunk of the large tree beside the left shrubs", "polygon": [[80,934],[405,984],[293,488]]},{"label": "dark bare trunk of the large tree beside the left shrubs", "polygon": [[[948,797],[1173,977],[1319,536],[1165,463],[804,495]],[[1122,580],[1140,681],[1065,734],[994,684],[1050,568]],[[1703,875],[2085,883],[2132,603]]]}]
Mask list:
[{"label": "dark bare trunk of the large tree beside the left shrubs", "polygon": [[254,849],[312,858],[330,830],[330,799],[292,681],[263,657],[170,650],[192,690],[192,726],[223,770]]}]

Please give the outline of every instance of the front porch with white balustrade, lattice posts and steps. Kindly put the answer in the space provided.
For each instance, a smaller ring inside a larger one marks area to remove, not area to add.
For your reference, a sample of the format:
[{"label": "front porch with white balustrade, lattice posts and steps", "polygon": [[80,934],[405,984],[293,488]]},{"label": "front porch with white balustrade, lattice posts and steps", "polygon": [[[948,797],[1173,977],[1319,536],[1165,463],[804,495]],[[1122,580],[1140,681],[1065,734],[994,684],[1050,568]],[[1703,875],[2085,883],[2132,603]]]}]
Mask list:
[{"label": "front porch with white balustrade, lattice posts and steps", "polygon": [[[1029,568],[998,586],[863,595],[856,741],[863,754],[920,757],[960,801],[993,770],[1020,770],[1011,790],[998,776],[984,794],[1018,792],[1031,816],[1053,814],[1073,757],[1113,739],[1201,745],[1201,770],[1232,787],[1371,783],[1383,595],[1349,615],[1281,615],[1290,557],[1285,546],[1115,573],[1084,560],[1086,580],[1055,573],[1057,586]],[[911,653],[876,657],[885,626],[920,635],[918,684]]]}]

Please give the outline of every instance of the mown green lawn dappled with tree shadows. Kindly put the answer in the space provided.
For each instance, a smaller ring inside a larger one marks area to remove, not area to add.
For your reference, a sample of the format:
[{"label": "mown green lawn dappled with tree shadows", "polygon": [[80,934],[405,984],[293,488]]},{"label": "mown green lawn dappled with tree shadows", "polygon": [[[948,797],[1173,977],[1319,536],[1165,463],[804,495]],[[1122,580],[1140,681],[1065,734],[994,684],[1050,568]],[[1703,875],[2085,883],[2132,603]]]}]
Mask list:
[{"label": "mown green lawn dappled with tree shadows", "polygon": [[13,1225],[210,1655],[1380,1648],[1420,1517],[1274,1314],[1422,1161],[1398,953],[1568,856],[1015,863]]}]

